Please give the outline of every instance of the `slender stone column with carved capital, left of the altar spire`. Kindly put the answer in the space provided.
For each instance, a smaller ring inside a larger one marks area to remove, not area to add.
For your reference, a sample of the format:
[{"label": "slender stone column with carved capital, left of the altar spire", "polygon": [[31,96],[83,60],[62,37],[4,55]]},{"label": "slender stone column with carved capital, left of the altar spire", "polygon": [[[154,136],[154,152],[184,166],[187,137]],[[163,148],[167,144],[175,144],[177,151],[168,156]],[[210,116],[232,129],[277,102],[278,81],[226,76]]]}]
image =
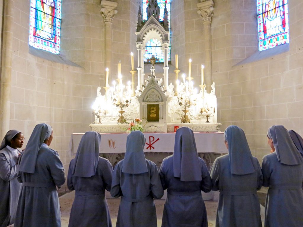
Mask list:
[{"label": "slender stone column with carved capital, left of the altar spire", "polygon": [[112,75],[112,24],[114,16],[118,12],[118,3],[102,0],[100,5],[105,24],[105,68],[108,68],[110,75]]}]

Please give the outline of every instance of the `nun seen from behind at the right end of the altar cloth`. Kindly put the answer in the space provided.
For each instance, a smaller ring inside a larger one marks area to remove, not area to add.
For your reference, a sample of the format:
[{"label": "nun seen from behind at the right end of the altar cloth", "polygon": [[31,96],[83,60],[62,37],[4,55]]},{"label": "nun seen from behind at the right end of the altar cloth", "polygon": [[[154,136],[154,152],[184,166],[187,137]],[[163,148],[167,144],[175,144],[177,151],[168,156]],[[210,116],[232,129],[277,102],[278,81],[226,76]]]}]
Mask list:
[{"label": "nun seen from behind at the right end of the altar cloth", "polygon": [[218,157],[210,170],[212,190],[220,190],[216,226],[262,226],[257,190],[263,176],[251,155],[244,131],[228,126],[224,132],[228,154]]}]

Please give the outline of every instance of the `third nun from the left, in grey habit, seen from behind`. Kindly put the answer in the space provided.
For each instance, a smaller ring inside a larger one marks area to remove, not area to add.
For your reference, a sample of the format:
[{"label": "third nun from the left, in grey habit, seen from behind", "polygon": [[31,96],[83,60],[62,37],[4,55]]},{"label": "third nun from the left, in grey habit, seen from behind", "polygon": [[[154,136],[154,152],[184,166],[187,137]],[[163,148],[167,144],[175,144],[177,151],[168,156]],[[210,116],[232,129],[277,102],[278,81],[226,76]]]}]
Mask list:
[{"label": "third nun from the left, in grey habit, seen from behind", "polygon": [[86,132],[69,163],[67,186],[76,192],[68,227],[112,227],[105,189],[111,189],[113,168],[99,157],[100,141],[99,133]]}]

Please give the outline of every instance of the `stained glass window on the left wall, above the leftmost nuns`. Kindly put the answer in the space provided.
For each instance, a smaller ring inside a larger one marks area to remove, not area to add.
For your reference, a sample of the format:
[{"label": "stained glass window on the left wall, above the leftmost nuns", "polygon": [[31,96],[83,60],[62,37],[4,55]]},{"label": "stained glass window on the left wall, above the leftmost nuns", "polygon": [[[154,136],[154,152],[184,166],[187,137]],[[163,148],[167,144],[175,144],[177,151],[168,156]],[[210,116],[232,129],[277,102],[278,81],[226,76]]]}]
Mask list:
[{"label": "stained glass window on the left wall, above the leftmost nuns", "polygon": [[61,0],[31,0],[29,45],[60,52]]}]

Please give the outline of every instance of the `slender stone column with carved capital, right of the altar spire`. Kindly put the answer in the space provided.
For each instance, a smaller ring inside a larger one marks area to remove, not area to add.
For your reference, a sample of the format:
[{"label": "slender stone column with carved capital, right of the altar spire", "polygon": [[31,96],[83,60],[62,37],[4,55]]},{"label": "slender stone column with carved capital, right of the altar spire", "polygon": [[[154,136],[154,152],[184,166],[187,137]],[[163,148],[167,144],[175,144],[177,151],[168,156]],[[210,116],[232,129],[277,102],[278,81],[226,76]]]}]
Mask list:
[{"label": "slender stone column with carved capital, right of the altar spire", "polygon": [[198,14],[201,15],[204,24],[204,43],[205,43],[205,84],[206,91],[211,92],[212,70],[211,70],[211,18],[214,10],[214,2],[212,0],[201,0],[197,4]]}]

